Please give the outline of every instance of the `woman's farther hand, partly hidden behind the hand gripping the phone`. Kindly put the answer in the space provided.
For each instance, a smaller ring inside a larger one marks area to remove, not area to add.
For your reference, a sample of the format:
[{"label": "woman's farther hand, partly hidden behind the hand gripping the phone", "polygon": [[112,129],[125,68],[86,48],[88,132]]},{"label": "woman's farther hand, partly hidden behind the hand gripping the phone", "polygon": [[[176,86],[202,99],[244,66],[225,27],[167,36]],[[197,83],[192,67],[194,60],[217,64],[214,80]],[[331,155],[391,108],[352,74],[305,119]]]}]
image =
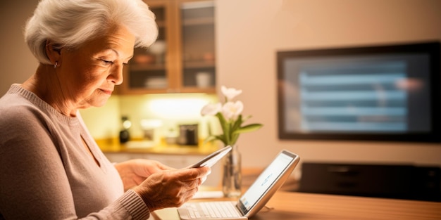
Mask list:
[{"label": "woman's farther hand, partly hidden behind the hand gripping the phone", "polygon": [[121,180],[123,180],[124,191],[138,186],[151,174],[166,170],[174,170],[174,168],[161,164],[161,162],[143,159],[121,162],[116,164],[115,168],[118,170]]}]

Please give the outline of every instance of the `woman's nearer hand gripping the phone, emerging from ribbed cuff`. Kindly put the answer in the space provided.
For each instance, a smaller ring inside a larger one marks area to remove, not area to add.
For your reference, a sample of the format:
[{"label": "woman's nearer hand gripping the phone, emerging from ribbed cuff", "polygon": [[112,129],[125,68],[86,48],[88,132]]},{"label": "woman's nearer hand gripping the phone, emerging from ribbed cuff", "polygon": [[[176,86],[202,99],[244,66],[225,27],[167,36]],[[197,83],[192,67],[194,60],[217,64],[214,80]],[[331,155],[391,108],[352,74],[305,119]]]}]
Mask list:
[{"label": "woman's nearer hand gripping the phone, emerging from ribbed cuff", "polygon": [[141,196],[150,212],[180,207],[193,197],[210,172],[209,167],[156,172],[133,190]]}]

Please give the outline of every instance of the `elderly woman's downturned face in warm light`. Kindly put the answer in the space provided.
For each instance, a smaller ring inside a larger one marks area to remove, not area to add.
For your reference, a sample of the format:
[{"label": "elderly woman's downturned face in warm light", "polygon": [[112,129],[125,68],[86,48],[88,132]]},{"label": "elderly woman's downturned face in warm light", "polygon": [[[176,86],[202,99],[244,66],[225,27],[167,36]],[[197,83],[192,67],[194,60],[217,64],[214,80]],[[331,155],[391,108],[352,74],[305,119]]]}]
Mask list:
[{"label": "elderly woman's downturned face in warm light", "polygon": [[123,65],[132,58],[134,45],[135,36],[116,27],[79,48],[62,48],[56,71],[65,104],[73,109],[104,105],[123,82]]}]

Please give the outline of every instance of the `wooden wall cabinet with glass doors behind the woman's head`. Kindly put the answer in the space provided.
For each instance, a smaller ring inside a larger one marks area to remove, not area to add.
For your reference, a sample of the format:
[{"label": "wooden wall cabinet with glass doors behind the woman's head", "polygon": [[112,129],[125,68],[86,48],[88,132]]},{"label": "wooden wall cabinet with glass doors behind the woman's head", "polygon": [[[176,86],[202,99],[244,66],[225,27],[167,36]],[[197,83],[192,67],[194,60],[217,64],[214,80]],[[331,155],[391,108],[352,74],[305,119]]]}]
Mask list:
[{"label": "wooden wall cabinet with glass doors behind the woman's head", "polygon": [[119,93],[215,93],[214,2],[144,1],[156,15],[159,37],[147,50],[135,49]]}]

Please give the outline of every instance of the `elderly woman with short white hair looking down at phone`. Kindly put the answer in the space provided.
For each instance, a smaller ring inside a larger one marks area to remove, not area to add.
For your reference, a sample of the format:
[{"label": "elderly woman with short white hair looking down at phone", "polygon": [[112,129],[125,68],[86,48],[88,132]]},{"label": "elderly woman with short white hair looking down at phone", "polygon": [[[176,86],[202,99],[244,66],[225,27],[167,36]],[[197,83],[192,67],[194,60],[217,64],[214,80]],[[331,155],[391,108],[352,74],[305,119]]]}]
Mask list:
[{"label": "elderly woman with short white hair looking down at phone", "polygon": [[141,0],[39,3],[25,26],[39,66],[0,99],[0,219],[147,219],[192,198],[209,168],[113,165],[78,112],[104,105],[156,36]]}]

